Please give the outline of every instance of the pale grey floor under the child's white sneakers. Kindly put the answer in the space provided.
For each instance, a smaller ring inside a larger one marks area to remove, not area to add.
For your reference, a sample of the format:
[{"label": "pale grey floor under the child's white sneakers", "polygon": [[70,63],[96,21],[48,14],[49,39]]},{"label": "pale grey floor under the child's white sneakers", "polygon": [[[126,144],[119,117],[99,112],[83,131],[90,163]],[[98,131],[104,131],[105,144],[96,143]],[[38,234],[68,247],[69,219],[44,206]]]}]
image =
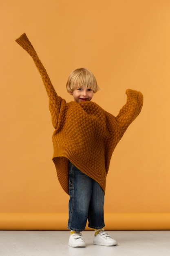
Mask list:
[{"label": "pale grey floor under the child's white sneakers", "polygon": [[168,256],[170,231],[108,231],[118,246],[93,245],[93,231],[82,232],[85,248],[68,246],[69,231],[0,231],[2,256]]}]

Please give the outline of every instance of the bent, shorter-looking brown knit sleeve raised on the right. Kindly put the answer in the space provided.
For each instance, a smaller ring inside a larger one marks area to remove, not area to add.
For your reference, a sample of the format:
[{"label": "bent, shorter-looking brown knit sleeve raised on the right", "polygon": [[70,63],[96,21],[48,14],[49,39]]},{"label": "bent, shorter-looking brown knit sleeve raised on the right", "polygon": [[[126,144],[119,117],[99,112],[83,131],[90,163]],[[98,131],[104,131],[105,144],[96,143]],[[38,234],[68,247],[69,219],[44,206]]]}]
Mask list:
[{"label": "bent, shorter-looking brown knit sleeve raised on the right", "polygon": [[143,106],[143,95],[141,92],[127,89],[126,94],[126,104],[121,108],[116,117],[117,123],[121,126],[121,137],[132,121],[139,115]]}]

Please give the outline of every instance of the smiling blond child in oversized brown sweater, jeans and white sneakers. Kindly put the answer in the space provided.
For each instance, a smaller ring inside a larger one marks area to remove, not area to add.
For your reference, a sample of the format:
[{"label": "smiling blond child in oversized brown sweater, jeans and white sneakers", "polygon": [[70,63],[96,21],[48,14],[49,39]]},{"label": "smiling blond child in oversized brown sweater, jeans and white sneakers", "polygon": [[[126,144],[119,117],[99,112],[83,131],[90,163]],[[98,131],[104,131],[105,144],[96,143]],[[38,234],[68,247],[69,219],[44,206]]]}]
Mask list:
[{"label": "smiling blond child in oversized brown sweater, jeans and white sneakers", "polygon": [[53,162],[58,180],[70,196],[68,245],[86,246],[80,232],[88,220],[88,227],[95,229],[95,245],[115,246],[117,242],[104,231],[106,175],[115,146],[141,111],[143,96],[141,92],[126,90],[127,102],[114,117],[91,101],[99,87],[92,72],[80,68],[68,77],[66,88],[74,101],[66,103],[55,92],[26,34],[16,42],[33,58],[49,96],[55,128]]}]

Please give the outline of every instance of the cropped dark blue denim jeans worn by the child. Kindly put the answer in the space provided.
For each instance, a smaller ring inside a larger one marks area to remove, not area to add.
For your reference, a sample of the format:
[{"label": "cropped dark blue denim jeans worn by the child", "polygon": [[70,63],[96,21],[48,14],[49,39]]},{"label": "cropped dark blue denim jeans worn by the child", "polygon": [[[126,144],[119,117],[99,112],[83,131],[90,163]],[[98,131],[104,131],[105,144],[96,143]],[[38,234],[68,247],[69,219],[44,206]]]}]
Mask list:
[{"label": "cropped dark blue denim jeans worn by the child", "polygon": [[68,229],[83,231],[88,227],[102,229],[104,225],[104,191],[101,186],[69,163]]}]

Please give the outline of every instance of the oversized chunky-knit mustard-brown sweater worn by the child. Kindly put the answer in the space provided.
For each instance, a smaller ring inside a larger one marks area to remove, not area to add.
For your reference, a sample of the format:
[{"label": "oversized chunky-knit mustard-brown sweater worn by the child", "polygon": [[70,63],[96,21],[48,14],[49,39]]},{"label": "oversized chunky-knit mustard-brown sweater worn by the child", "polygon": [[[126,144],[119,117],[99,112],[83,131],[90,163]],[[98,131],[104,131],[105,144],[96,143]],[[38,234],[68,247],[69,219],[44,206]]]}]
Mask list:
[{"label": "oversized chunky-knit mustard-brown sweater worn by the child", "polygon": [[53,133],[53,162],[58,180],[68,190],[68,163],[96,180],[105,192],[106,175],[113,151],[128,126],[139,115],[143,95],[126,90],[127,102],[115,117],[92,101],[66,103],[59,97],[26,34],[16,42],[30,54],[49,97]]}]

